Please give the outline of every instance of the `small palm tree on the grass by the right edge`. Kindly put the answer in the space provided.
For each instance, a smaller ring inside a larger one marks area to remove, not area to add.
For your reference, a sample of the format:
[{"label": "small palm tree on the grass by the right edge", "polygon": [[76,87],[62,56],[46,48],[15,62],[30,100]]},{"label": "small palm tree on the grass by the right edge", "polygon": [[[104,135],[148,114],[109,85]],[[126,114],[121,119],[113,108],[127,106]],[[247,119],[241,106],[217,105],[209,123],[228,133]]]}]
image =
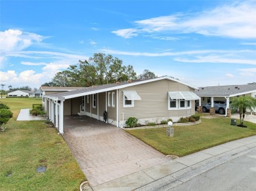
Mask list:
[{"label": "small palm tree on the grass by the right edge", "polygon": [[243,124],[246,109],[252,112],[256,108],[256,99],[251,96],[235,97],[232,99],[231,107],[239,109],[240,124]]}]

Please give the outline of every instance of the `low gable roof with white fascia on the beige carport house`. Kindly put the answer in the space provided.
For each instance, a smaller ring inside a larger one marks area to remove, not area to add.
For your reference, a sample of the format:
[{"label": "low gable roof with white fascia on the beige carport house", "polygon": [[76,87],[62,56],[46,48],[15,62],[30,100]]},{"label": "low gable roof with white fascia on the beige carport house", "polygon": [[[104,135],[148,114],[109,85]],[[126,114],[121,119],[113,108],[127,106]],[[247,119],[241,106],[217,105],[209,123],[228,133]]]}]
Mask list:
[{"label": "low gable roof with white fascia on the beige carport house", "polygon": [[154,81],[164,80],[164,79],[179,82],[181,84],[189,86],[190,88],[197,89],[196,86],[187,84],[186,82],[181,82],[181,80],[178,80],[173,77],[165,76],[165,77],[152,78],[152,79],[148,79],[148,80],[133,80],[133,81],[127,81],[127,82],[119,82],[119,83],[115,83],[115,84],[103,84],[103,85],[99,85],[99,86],[91,86],[91,87],[82,88],[80,90],[74,90],[74,91],[70,91],[70,92],[62,92],[62,93],[57,93],[57,94],[45,95],[44,97],[48,97],[51,99],[58,99],[59,97],[63,97],[65,99],[70,99],[73,97],[87,96],[90,94],[97,94],[100,92],[118,90],[118,89],[126,88],[129,86],[135,86],[135,85],[139,85],[139,84],[144,84],[144,83],[154,82]]}]

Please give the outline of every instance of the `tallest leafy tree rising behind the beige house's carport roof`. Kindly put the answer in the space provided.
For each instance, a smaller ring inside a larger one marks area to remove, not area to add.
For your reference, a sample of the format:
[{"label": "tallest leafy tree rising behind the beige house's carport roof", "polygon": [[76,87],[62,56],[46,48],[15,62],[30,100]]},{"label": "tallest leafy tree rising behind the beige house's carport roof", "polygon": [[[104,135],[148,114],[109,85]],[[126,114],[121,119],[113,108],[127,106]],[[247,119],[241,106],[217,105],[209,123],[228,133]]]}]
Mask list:
[{"label": "tallest leafy tree rising behind the beige house's carport roof", "polygon": [[123,61],[118,58],[103,53],[96,53],[89,60],[79,60],[81,77],[87,79],[87,86],[137,78],[132,65],[122,64]]}]

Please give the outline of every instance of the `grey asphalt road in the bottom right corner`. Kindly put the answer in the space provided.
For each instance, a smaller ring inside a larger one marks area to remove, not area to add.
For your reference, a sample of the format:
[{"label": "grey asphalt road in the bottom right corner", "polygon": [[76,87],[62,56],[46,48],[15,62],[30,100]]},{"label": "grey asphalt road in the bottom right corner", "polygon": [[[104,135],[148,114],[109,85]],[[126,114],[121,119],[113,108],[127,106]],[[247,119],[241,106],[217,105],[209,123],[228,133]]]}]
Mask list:
[{"label": "grey asphalt road in the bottom right corner", "polygon": [[256,148],[175,188],[166,185],[162,190],[256,190]]}]

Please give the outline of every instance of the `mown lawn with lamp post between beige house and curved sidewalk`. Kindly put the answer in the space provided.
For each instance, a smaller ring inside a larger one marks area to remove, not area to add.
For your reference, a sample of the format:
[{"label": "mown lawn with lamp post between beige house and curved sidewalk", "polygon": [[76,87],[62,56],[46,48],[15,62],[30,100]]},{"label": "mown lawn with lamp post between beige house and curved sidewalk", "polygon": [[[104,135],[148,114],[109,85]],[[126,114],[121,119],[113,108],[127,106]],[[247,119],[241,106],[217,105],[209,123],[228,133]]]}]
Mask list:
[{"label": "mown lawn with lamp post between beige house and curved sidewalk", "polygon": [[163,154],[185,156],[205,148],[256,135],[256,124],[244,122],[248,128],[230,126],[230,118],[201,118],[196,126],[175,126],[174,137],[167,137],[167,128],[129,130],[135,137]]}]

